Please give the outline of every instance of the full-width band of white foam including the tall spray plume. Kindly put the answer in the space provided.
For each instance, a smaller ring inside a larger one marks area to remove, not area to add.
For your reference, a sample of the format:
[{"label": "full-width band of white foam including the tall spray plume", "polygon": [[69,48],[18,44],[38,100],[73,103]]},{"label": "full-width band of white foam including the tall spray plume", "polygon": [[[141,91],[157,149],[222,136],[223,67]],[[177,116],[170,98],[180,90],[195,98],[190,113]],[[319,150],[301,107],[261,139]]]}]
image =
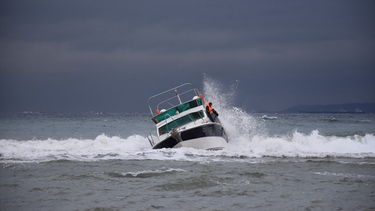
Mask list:
[{"label": "full-width band of white foam including the tall spray plume", "polygon": [[[318,130],[310,134],[297,130],[285,136],[268,136],[264,118],[257,119],[244,110],[233,106],[236,84],[223,88],[220,83],[204,78],[203,95],[206,102],[213,101],[214,109],[229,132],[228,148],[221,151],[205,151],[192,148],[152,150],[146,137],[133,135],[126,139],[101,134],[93,140],[0,140],[1,163],[25,160],[98,160],[98,159],[154,159],[195,160],[211,162],[231,161],[237,157],[375,157],[375,136],[322,136]],[[221,92],[227,90],[226,92]],[[273,118],[273,117],[272,117]],[[275,118],[273,118],[275,119]],[[3,159],[5,158],[5,159]],[[39,159],[40,158],[40,159]],[[14,159],[14,160],[12,160]],[[237,160],[236,160],[237,161]],[[249,161],[249,160],[247,160]],[[258,160],[259,161],[259,160]],[[258,162],[256,161],[256,162]],[[252,160],[250,160],[252,162]]]}]

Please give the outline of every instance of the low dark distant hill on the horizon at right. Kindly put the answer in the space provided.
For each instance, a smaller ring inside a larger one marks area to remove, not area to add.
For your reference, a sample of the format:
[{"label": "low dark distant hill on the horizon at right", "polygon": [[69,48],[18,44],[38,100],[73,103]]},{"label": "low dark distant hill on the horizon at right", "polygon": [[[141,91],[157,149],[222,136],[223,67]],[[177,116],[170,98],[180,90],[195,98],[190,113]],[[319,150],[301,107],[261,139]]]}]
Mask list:
[{"label": "low dark distant hill on the horizon at right", "polygon": [[347,103],[347,104],[329,104],[329,105],[296,105],[290,107],[287,110],[281,111],[280,113],[299,113],[300,111],[335,111],[335,110],[347,110],[348,112],[354,112],[354,110],[361,108],[365,113],[375,113],[375,102],[363,102],[363,103]]}]

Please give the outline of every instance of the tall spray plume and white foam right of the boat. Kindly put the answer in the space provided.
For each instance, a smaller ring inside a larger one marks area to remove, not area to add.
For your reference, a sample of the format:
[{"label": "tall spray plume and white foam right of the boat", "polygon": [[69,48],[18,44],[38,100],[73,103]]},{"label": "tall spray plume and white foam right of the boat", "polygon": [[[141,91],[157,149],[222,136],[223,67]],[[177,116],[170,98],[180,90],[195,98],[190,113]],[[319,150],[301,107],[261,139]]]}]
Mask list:
[{"label": "tall spray plume and white foam right of the boat", "polygon": [[[212,101],[219,112],[220,121],[229,132],[228,149],[221,155],[245,157],[374,157],[374,134],[366,136],[323,136],[318,130],[311,134],[300,133],[293,128],[287,135],[270,135],[266,121],[277,120],[276,116],[254,117],[234,105],[239,81],[224,86],[216,78],[204,75],[203,94],[205,101]],[[202,154],[199,154],[202,155]]]}]

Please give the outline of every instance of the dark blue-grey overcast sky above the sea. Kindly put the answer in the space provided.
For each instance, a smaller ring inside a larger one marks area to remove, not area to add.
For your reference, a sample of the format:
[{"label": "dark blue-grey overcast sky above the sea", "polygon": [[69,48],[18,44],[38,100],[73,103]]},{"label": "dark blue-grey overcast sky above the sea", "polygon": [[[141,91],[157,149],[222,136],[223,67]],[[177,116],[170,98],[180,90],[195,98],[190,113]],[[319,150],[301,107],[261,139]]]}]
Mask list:
[{"label": "dark blue-grey overcast sky above the sea", "polygon": [[239,80],[248,111],[374,102],[374,14],[370,0],[1,0],[0,112],[149,112],[204,74]]}]

